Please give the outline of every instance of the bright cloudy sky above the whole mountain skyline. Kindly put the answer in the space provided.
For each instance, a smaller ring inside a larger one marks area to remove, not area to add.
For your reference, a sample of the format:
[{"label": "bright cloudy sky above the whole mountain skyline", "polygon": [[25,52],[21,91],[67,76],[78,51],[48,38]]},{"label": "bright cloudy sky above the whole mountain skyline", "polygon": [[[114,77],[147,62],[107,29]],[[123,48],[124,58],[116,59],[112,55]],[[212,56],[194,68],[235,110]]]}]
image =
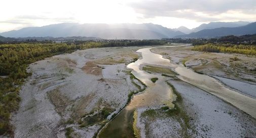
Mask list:
[{"label": "bright cloudy sky above the whole mountain skyline", "polygon": [[57,23],[154,23],[190,29],[209,22],[256,22],[255,0],[3,0],[0,32]]}]

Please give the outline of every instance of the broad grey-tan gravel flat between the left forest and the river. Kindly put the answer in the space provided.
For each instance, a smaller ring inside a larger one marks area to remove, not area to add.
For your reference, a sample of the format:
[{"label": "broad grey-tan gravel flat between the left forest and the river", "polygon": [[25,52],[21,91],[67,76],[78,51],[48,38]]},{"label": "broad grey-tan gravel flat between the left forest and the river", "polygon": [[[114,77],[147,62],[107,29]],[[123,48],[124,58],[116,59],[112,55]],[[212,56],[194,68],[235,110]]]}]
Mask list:
[{"label": "broad grey-tan gravel flat between the left forest and the river", "polygon": [[12,117],[14,137],[93,137],[131,91],[145,87],[126,68],[138,49],[88,49],[30,64]]}]

